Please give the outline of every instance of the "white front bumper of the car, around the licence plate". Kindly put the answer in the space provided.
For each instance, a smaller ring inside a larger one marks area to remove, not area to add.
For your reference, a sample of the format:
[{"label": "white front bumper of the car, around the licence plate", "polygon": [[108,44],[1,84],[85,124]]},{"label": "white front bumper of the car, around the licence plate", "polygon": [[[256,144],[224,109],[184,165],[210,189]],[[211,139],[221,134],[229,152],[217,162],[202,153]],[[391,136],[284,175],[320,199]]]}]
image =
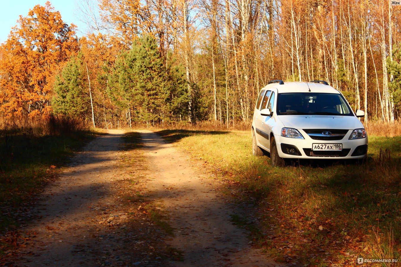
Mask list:
[{"label": "white front bumper of the car, around the licence plate", "polygon": [[[367,155],[367,138],[348,140],[319,141],[308,136],[295,139],[274,135],[279,157],[285,159],[364,159]],[[342,144],[342,151],[313,151],[314,143]]]}]

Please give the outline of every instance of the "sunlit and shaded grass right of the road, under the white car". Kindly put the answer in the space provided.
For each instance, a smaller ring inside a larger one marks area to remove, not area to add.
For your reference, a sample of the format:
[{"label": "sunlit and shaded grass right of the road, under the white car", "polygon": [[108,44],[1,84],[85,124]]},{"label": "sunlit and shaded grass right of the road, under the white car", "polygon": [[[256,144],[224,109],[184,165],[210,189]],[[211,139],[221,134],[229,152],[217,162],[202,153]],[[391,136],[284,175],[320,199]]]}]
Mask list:
[{"label": "sunlit and shaded grass right of the road, under the white car", "polygon": [[359,256],[400,257],[401,137],[370,136],[369,158],[361,164],[272,168],[269,157],[251,155],[250,131],[159,134],[252,193],[262,227],[273,228],[272,236],[258,240],[277,259],[324,266],[328,258],[349,264]]}]

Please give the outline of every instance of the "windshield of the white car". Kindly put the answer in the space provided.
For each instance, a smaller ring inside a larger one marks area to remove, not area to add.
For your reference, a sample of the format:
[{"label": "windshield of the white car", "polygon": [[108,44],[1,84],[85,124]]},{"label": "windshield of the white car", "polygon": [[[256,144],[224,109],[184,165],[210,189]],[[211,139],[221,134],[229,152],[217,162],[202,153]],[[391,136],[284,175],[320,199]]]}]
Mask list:
[{"label": "windshield of the white car", "polygon": [[341,94],[282,93],[277,98],[277,115],[353,116]]}]

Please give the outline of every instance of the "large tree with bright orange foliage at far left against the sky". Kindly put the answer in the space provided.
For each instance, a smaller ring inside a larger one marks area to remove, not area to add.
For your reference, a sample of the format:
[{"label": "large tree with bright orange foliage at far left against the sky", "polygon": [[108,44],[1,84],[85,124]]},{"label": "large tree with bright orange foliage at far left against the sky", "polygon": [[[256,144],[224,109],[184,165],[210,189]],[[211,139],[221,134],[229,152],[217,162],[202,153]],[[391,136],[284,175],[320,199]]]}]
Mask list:
[{"label": "large tree with bright orange foliage at far left against the sky", "polygon": [[0,57],[0,112],[5,116],[48,114],[55,73],[78,49],[75,26],[50,2],[18,19]]}]

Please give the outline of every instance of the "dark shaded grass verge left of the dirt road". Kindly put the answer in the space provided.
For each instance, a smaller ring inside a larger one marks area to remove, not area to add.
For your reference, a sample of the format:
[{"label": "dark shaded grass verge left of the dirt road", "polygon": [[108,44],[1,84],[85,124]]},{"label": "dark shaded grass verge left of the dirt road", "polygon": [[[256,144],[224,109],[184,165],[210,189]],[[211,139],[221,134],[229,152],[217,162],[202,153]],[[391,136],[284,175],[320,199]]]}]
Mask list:
[{"label": "dark shaded grass verge left of the dirt road", "polygon": [[93,137],[95,133],[89,131],[41,137],[16,132],[0,137],[0,231],[20,224],[18,210],[33,205],[36,193],[57,168]]}]

